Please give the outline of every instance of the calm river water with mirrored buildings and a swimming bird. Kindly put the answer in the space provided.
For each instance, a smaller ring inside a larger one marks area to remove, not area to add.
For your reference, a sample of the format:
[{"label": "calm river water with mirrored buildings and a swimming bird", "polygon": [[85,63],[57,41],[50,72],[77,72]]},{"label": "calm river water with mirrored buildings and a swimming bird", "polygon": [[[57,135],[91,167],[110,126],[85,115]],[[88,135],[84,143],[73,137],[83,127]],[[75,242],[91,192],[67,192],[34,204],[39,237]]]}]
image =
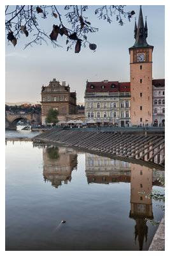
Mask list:
[{"label": "calm river water with mirrored buildings and a swimming bird", "polygon": [[6,131],[6,250],[148,250],[158,226],[145,218],[159,221],[164,212],[138,192],[164,191],[156,178],[164,171],[15,141],[16,132]]}]

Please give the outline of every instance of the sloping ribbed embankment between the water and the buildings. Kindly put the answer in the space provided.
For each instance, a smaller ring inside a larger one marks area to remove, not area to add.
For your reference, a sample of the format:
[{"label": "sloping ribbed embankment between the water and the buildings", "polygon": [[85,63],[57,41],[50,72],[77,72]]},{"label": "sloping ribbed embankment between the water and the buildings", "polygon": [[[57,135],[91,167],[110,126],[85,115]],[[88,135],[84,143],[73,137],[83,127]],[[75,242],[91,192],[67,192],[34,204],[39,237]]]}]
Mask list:
[{"label": "sloping ribbed embankment between the water and the buildings", "polygon": [[164,167],[164,156],[160,161],[160,151],[164,151],[164,136],[56,128],[35,136],[33,141],[36,143],[62,143],[115,156],[145,160],[152,164],[157,156],[156,164]]}]

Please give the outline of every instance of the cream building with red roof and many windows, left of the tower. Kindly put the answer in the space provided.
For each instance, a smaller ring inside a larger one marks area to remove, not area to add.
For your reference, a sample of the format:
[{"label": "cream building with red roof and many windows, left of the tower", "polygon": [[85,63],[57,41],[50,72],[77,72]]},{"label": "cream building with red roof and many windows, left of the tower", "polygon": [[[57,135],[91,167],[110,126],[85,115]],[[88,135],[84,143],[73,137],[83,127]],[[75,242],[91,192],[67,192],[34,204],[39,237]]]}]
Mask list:
[{"label": "cream building with red roof and many windows, left of the tower", "polygon": [[87,81],[85,121],[113,126],[130,125],[130,83]]}]

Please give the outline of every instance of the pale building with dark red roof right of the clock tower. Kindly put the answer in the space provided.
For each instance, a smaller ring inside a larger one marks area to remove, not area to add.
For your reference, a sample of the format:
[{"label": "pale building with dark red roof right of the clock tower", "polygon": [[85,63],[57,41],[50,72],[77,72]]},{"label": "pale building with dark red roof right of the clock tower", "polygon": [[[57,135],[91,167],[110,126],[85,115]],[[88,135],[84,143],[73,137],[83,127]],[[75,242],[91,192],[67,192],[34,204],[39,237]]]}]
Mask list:
[{"label": "pale building with dark red roof right of the clock tower", "polygon": [[165,125],[165,79],[152,80],[153,125]]}]

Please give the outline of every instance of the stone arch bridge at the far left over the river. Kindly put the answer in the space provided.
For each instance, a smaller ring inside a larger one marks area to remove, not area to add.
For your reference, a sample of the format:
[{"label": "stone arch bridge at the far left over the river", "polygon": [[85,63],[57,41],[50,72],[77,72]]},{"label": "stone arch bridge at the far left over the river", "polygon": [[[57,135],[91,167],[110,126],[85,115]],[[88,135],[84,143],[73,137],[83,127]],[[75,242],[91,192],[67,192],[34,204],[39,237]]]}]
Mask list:
[{"label": "stone arch bridge at the far left over the river", "polygon": [[41,114],[38,113],[5,115],[5,129],[16,130],[17,122],[23,118],[29,120],[31,126],[41,124]]}]

